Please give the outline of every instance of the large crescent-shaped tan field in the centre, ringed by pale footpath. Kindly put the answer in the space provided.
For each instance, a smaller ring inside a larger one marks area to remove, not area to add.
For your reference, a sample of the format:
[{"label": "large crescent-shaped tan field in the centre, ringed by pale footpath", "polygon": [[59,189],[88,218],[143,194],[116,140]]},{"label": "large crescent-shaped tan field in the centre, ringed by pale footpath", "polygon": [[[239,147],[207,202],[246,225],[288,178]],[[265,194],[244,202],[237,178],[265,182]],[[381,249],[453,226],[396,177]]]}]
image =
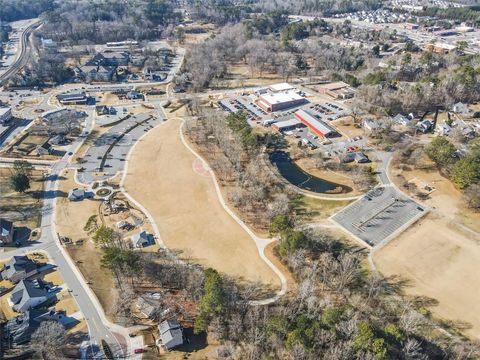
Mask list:
[{"label": "large crescent-shaped tan field in the centre, ringed by pale footpath", "polygon": [[126,190],[152,214],[169,248],[228,275],[278,287],[253,240],[219,203],[212,179],[195,172],[180,126],[168,120],[135,147]]}]

